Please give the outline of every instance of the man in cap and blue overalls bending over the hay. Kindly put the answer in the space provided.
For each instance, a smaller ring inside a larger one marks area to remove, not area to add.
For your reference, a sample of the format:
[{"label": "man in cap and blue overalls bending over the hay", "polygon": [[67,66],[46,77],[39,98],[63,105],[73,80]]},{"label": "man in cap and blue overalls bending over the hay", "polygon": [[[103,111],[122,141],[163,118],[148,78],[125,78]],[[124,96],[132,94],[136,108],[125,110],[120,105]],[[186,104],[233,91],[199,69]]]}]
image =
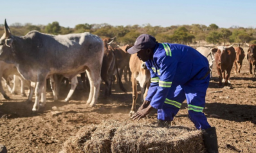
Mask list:
[{"label": "man in cap and blue overalls bending over the hay", "polygon": [[187,99],[188,116],[203,130],[208,152],[218,152],[215,127],[203,113],[210,80],[208,60],[196,49],[181,44],[158,43],[151,35],[140,35],[128,53],[137,53],[151,72],[151,86],[133,119],[145,118],[158,109],[158,121],[170,123]]}]

